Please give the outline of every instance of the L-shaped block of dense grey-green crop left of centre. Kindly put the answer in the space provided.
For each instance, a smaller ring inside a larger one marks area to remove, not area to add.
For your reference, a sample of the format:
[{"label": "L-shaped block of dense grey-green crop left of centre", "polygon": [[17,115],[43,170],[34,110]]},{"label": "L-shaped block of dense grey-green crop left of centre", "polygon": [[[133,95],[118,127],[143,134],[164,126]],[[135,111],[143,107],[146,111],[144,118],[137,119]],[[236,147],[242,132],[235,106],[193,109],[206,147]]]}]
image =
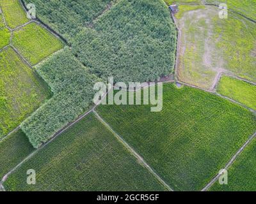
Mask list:
[{"label": "L-shaped block of dense grey-green crop left of centre", "polygon": [[22,130],[34,147],[76,119],[92,103],[93,85],[99,78],[88,73],[68,48],[40,64],[38,73],[54,96],[22,123]]}]

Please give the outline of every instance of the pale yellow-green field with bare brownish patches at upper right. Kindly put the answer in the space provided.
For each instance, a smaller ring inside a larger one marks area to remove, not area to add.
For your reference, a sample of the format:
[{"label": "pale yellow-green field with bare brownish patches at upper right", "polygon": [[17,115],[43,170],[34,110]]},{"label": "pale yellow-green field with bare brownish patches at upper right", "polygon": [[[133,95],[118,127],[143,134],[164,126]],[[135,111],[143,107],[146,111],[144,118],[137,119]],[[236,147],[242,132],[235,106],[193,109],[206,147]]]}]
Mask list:
[{"label": "pale yellow-green field with bare brownish patches at upper right", "polygon": [[[256,81],[255,24],[235,13],[218,17],[218,8],[180,6],[177,13],[180,37],[178,76],[188,84],[214,89],[218,73]],[[193,10],[191,10],[193,9]],[[193,19],[191,21],[191,19]],[[236,52],[234,52],[236,50]]]}]

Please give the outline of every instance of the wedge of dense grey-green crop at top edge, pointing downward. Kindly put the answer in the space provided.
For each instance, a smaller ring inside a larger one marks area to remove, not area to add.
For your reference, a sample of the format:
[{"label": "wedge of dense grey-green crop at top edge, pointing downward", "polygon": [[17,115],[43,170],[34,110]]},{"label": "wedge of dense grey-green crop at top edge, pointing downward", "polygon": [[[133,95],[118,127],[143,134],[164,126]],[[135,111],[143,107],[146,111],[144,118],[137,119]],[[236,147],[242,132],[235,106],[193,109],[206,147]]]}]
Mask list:
[{"label": "wedge of dense grey-green crop at top edge, pointing downward", "polygon": [[[31,3],[29,0],[24,2]],[[33,0],[37,17],[68,39],[90,24],[112,2],[111,0]]]}]

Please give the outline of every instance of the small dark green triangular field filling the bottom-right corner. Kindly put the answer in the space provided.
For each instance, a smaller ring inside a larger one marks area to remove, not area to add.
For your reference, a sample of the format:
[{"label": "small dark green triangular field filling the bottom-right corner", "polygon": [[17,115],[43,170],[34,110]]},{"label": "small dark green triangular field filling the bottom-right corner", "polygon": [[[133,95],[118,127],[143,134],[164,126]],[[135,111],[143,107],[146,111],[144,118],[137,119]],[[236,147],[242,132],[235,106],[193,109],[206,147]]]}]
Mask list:
[{"label": "small dark green triangular field filling the bottom-right corner", "polygon": [[256,140],[254,139],[228,169],[228,184],[217,181],[209,191],[256,191]]}]

